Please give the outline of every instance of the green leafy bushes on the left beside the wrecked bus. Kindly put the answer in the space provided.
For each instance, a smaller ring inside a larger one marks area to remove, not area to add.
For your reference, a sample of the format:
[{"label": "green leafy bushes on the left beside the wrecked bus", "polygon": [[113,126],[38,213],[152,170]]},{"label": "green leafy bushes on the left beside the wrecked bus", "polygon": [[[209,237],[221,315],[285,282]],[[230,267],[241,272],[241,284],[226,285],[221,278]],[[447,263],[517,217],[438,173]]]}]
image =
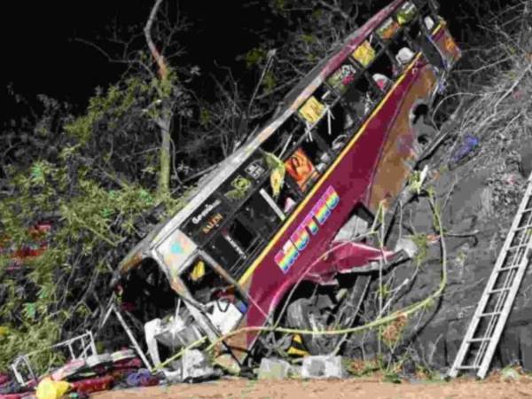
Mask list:
[{"label": "green leafy bushes on the left beside the wrecked bus", "polygon": [[[90,98],[87,112],[77,118],[43,98],[50,107],[34,122],[39,139],[24,147],[26,156],[3,165],[2,246],[32,245],[28,231],[37,223],[52,228],[42,255],[21,265],[10,250],[0,256],[0,369],[14,356],[95,325],[110,294],[112,270],[143,235],[142,218],[158,204],[167,212],[182,206],[156,192],[155,179],[145,172],[153,166],[149,151],[135,154],[153,143],[142,114],[149,94],[145,83],[127,79]],[[19,129],[20,134],[31,124]],[[43,153],[43,146],[57,151]],[[43,353],[33,360],[43,371],[60,358]]]}]

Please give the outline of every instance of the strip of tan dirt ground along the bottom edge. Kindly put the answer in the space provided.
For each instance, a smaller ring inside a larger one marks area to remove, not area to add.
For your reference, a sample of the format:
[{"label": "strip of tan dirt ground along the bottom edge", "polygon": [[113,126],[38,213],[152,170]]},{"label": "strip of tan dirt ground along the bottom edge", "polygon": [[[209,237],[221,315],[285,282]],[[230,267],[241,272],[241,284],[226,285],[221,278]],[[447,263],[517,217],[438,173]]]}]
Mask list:
[{"label": "strip of tan dirt ground along the bottom edge", "polygon": [[94,399],[229,399],[229,398],[520,398],[532,397],[532,379],[487,379],[452,382],[403,382],[379,379],[329,379],[257,381],[223,379],[202,384],[132,388],[94,394]]}]

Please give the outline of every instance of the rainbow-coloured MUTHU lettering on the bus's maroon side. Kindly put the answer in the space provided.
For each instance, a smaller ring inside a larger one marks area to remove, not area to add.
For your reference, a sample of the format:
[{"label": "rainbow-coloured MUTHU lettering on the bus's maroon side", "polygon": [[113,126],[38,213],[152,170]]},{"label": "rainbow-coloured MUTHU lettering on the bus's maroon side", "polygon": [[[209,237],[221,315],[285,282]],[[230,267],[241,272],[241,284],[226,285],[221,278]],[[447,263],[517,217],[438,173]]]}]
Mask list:
[{"label": "rainbow-coloured MUTHU lettering on the bus's maroon side", "polygon": [[[310,233],[314,236],[317,234],[319,228],[314,221],[316,218],[320,225],[323,225],[331,215],[332,209],[334,209],[340,202],[340,196],[334,191],[332,186],[325,191],[321,198],[317,201],[317,204],[312,207],[309,215],[305,216],[303,222],[295,229],[283,246],[283,248],[275,255],[274,260],[278,264],[278,267],[287,273],[290,267],[293,265],[300,252],[309,246]],[[307,229],[309,231],[307,231]]]}]

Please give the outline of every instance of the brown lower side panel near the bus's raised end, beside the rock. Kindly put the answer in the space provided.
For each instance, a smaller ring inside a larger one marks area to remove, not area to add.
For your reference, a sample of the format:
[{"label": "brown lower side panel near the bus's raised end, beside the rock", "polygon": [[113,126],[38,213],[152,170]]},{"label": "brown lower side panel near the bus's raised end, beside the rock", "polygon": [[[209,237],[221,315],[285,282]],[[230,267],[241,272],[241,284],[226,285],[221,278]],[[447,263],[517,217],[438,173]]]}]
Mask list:
[{"label": "brown lower side panel near the bus's raised end, beside the rock", "polygon": [[380,115],[381,118],[388,118],[393,123],[388,130],[379,165],[375,168],[370,199],[366,204],[373,214],[377,213],[381,200],[386,200],[385,207],[391,205],[411,173],[410,165],[417,156],[413,149],[416,135],[411,127],[411,111],[419,102],[428,104],[430,93],[436,84],[433,68],[422,59],[417,61],[416,66],[408,74],[411,84],[408,87],[403,85],[405,95],[395,102],[395,113]]}]

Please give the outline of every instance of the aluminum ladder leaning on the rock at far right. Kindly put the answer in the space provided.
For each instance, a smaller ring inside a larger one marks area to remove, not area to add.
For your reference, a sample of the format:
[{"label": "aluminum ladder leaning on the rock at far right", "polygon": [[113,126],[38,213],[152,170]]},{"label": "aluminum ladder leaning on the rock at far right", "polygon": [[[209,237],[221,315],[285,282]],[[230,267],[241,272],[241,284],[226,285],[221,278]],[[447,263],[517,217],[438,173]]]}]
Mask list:
[{"label": "aluminum ladder leaning on the rock at far right", "polygon": [[488,283],[484,288],[477,309],[465,338],[460,345],[448,376],[455,378],[458,372],[474,372],[483,379],[512,310],[532,253],[532,174],[528,176],[527,189],[520,202],[512,227]]}]

